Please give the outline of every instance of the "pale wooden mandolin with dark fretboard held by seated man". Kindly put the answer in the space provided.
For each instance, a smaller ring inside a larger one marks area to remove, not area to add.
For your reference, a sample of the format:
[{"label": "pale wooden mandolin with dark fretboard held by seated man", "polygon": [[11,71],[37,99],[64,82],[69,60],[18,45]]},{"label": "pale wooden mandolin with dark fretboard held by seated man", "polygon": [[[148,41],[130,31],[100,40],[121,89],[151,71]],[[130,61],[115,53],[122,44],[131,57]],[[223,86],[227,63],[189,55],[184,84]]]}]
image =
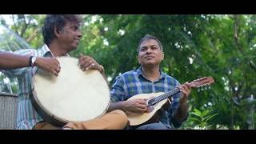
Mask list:
[{"label": "pale wooden mandolin with dark fretboard held by seated man", "polygon": [[[214,78],[212,77],[203,77],[195,79],[188,84],[191,88],[198,88],[198,90],[207,90],[210,89],[210,85],[214,83]],[[180,90],[175,88],[166,93],[150,93],[150,94],[137,94],[129,98],[127,101],[142,98],[146,99],[148,111],[144,114],[128,114],[128,120],[130,126],[139,126],[147,123],[152,123],[158,121],[158,118],[162,114],[162,111],[166,111],[170,106],[170,99],[174,94],[179,93]]]}]

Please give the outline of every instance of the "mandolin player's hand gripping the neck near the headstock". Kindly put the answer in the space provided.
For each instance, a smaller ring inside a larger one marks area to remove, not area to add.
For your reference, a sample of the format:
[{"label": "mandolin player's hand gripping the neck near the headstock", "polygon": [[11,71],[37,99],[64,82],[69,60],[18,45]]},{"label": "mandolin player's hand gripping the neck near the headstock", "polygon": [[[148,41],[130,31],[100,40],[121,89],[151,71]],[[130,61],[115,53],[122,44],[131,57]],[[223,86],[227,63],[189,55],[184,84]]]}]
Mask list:
[{"label": "mandolin player's hand gripping the neck near the headstock", "polygon": [[179,98],[179,103],[181,105],[184,105],[187,103],[190,92],[191,92],[191,86],[188,84],[188,82],[184,83],[183,85],[177,86],[179,90],[182,91],[182,96]]}]

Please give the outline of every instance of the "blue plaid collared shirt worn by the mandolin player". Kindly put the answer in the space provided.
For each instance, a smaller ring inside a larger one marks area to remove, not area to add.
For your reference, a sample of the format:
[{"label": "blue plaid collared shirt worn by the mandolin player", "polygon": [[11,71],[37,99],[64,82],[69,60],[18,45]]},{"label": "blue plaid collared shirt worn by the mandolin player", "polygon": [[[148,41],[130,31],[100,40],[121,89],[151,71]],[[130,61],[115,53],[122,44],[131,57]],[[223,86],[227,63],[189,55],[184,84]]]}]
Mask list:
[{"label": "blue plaid collared shirt worn by the mandolin player", "polygon": [[[158,92],[168,92],[173,90],[175,86],[180,85],[179,82],[160,70],[160,78],[151,82],[142,74],[142,68],[128,71],[115,79],[111,89],[111,102],[126,101],[128,98],[136,94],[150,94]],[[178,108],[179,97],[181,93],[174,94],[174,101],[170,108],[166,110],[160,117],[159,121],[167,127],[174,128],[181,126],[182,123],[175,121],[174,112]]]}]

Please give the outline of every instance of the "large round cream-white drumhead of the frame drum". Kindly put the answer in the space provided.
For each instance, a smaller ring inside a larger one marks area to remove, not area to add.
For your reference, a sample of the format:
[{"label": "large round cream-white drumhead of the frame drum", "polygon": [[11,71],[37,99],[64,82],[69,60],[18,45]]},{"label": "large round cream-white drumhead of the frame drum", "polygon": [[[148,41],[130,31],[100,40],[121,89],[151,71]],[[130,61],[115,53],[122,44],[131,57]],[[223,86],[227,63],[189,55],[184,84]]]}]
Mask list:
[{"label": "large round cream-white drumhead of the frame drum", "polygon": [[98,70],[82,71],[77,58],[57,58],[58,77],[38,70],[34,77],[35,100],[50,116],[62,122],[84,122],[104,114],[110,104],[110,89]]}]

